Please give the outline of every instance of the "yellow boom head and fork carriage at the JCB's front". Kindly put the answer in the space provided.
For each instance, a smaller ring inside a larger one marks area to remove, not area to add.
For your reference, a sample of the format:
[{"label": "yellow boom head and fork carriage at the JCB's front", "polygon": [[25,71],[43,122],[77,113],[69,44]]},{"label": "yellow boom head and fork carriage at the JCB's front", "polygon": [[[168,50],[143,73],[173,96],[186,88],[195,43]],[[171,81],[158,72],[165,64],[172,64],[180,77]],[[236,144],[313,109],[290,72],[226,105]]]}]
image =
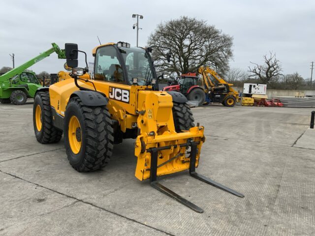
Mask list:
[{"label": "yellow boom head and fork carriage at the JCB's front", "polygon": [[[167,92],[140,90],[138,92],[138,127],[140,134],[135,143],[135,156],[138,157],[135,177],[139,180],[150,177],[150,148],[158,151],[157,176],[167,175],[189,169],[189,154],[186,147],[189,142],[196,142],[196,164],[204,142],[204,127],[192,127],[181,133],[175,131],[172,115],[172,96]],[[165,147],[163,149],[162,147]]]}]

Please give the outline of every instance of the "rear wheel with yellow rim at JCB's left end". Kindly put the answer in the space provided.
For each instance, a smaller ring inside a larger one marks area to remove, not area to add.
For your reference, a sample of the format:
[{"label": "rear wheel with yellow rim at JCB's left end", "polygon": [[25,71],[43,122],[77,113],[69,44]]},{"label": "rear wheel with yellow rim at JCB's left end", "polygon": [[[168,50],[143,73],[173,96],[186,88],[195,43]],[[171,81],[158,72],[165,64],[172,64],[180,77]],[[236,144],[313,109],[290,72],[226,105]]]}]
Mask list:
[{"label": "rear wheel with yellow rim at JCB's left end", "polygon": [[41,144],[58,143],[63,131],[53,124],[48,92],[37,92],[33,105],[33,124],[37,141]]}]

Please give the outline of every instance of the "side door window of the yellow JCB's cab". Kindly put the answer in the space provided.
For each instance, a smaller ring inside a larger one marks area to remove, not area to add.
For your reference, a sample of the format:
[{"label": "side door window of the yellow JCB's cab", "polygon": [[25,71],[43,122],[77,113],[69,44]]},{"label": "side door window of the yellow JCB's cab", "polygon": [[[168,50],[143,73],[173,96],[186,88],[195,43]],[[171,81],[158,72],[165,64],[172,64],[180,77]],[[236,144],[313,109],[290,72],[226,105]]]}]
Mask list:
[{"label": "side door window of the yellow JCB's cab", "polygon": [[95,55],[95,80],[125,83],[123,68],[113,46],[99,48]]}]

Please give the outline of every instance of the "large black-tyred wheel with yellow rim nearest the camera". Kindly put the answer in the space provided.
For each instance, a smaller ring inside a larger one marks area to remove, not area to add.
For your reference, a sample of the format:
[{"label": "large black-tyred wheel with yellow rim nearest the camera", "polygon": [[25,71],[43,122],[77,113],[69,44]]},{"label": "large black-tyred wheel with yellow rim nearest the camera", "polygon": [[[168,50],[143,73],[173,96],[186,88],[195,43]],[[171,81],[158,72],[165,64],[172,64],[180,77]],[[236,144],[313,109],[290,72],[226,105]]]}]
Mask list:
[{"label": "large black-tyred wheel with yellow rim nearest the camera", "polygon": [[79,97],[69,100],[64,117],[64,145],[70,165],[78,172],[105,167],[114,135],[106,106],[90,107]]}]

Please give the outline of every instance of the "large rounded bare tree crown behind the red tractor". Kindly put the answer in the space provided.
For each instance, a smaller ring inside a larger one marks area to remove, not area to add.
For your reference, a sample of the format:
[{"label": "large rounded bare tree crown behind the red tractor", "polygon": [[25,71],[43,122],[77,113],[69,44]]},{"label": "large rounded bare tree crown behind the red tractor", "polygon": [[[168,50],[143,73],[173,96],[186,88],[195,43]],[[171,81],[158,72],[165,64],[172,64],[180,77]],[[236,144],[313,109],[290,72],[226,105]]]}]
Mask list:
[{"label": "large rounded bare tree crown behind the red tractor", "polygon": [[[218,72],[228,69],[232,58],[233,37],[222,33],[204,20],[189,18],[160,23],[148,39],[148,46],[154,48],[152,56],[156,60],[157,71],[176,72],[178,75],[196,72],[201,65],[211,65]],[[165,47],[171,50],[168,63]]]}]

